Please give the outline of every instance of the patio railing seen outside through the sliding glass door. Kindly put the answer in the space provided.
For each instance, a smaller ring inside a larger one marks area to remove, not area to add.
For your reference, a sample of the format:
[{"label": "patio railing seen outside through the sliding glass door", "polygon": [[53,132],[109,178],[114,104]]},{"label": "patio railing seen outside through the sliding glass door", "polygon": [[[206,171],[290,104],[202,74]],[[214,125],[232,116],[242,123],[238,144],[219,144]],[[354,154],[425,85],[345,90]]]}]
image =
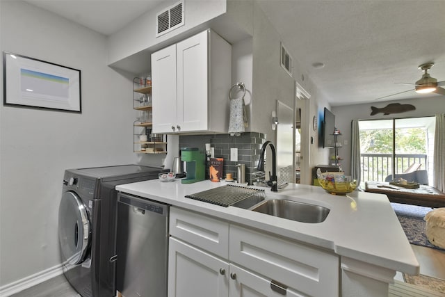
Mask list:
[{"label": "patio railing seen outside through the sliding glass door", "polygon": [[[362,182],[385,182],[392,174],[392,154],[360,154],[362,161]],[[396,154],[396,172],[403,173],[412,163],[421,163],[421,169],[426,169],[426,154]]]}]

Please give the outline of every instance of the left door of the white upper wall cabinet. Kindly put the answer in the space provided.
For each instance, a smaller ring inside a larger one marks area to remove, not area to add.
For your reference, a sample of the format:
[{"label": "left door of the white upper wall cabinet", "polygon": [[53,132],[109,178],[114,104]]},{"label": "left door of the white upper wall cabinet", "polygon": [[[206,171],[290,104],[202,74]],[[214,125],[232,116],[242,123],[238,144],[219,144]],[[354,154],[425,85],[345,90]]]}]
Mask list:
[{"label": "left door of the white upper wall cabinet", "polygon": [[171,45],[152,54],[153,133],[177,131],[176,84],[176,45]]}]

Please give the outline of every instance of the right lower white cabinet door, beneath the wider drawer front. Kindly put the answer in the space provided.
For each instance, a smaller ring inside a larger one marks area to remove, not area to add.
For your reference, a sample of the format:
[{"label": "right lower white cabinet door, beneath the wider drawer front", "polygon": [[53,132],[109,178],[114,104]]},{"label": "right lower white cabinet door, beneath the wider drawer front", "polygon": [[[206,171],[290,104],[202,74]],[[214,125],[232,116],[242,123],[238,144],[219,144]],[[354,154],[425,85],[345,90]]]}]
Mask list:
[{"label": "right lower white cabinet door, beneath the wider drawer front", "polygon": [[[276,282],[274,282],[276,283]],[[300,295],[289,288],[280,288],[270,280],[230,264],[230,297],[282,297]]]}]

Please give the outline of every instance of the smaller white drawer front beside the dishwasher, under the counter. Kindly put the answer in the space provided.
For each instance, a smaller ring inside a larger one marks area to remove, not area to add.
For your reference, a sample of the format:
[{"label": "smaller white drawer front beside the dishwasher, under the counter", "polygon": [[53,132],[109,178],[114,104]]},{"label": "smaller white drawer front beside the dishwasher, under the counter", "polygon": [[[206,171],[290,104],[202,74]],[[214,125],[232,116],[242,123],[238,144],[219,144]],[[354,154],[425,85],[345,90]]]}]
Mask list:
[{"label": "smaller white drawer front beside the dishwasher, under the counter", "polygon": [[214,255],[229,258],[229,223],[170,207],[170,235]]}]

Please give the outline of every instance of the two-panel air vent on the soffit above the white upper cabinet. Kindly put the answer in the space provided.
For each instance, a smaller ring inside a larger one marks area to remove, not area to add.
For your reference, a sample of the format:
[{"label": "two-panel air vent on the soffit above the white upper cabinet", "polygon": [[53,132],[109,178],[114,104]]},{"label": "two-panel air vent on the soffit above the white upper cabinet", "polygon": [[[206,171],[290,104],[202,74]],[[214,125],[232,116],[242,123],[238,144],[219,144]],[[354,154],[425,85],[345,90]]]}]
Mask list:
[{"label": "two-panel air vent on the soffit above the white upper cabinet", "polygon": [[156,37],[184,26],[184,0],[156,14]]}]

